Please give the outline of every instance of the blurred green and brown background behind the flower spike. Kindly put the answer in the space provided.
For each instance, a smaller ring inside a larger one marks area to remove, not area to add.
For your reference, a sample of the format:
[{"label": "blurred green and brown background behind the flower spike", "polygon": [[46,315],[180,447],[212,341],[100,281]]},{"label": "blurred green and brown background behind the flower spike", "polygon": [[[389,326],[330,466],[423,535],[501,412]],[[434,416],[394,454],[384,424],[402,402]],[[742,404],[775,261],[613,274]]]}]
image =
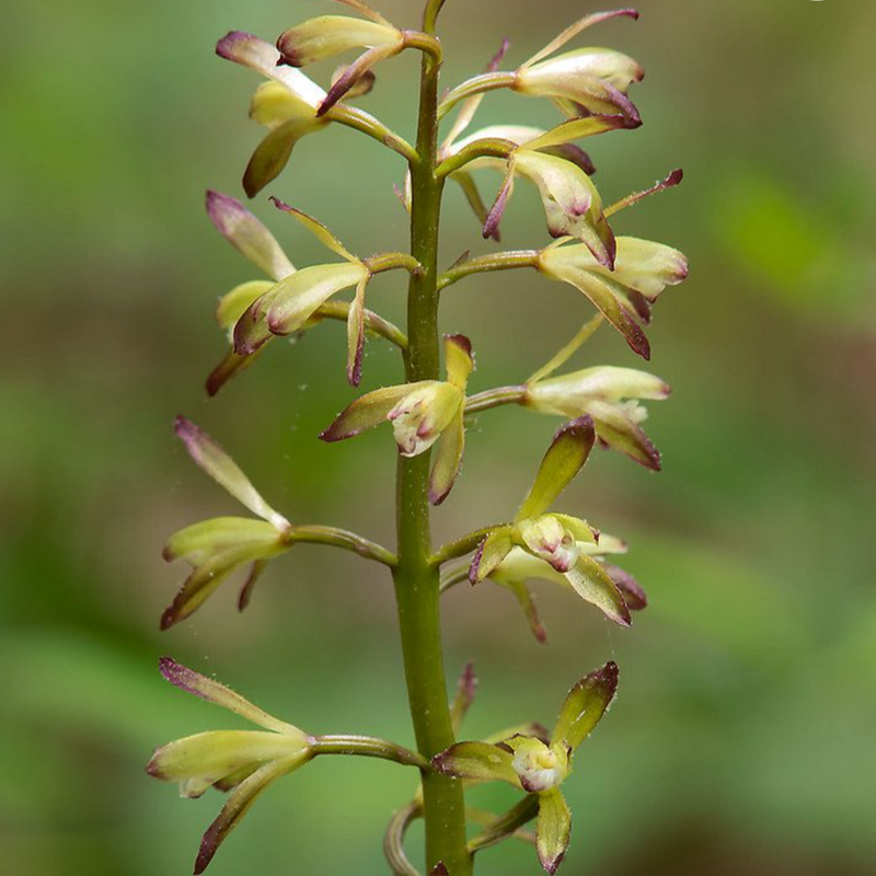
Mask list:
[{"label": "blurred green and brown background behind the flower spike", "polygon": [[[410,24],[418,7],[382,3]],[[480,70],[503,36],[519,62],[590,8],[448,0],[447,81]],[[599,453],[565,504],[631,541],[626,565],[653,604],[624,633],[544,587],[545,647],[506,592],[459,588],[447,601],[449,667],[476,660],[468,733],[477,735],[550,723],[580,675],[609,658],[622,665],[620,700],[567,785],[576,816],[565,873],[863,876],[876,868],[876,7],[641,8],[638,24],[610,23],[592,39],[647,68],[634,95],[646,124],[592,152],[609,200],[687,172],[680,189],[616,223],[692,262],[652,333],[652,370],[675,388],[649,422],[665,471]],[[392,541],[390,436],[315,440],[353,397],[341,325],[278,345],[214,401],[201,390],[224,349],[214,302],[254,276],[207,221],[204,189],[239,195],[260,137],[246,118],[256,80],[217,59],[212,43],[231,28],[273,38],[326,11],[304,0],[4,7],[4,872],[189,872],[219,797],[181,800],[142,765],[158,744],[237,725],[168,687],[163,653],[313,731],[411,739],[391,587],[355,557],[298,549],[244,615],[226,586],[192,621],[158,632],[182,576],[161,562],[163,539],[234,507],[173,438],[178,412],[219,437],[292,520]],[[380,72],[362,105],[410,132],[415,62]],[[481,120],[503,119],[556,116],[491,95]],[[270,191],[369,254],[404,244],[391,187],[400,176],[393,154],[332,130],[304,140]],[[447,205],[450,262],[483,244],[454,188]],[[324,257],[266,197],[253,209],[296,263]],[[526,186],[505,232],[509,246],[544,240]],[[402,318],[399,279],[370,293]],[[505,275],[456,287],[442,324],[472,336],[480,390],[525,378],[588,315],[570,289]],[[576,359],[608,361],[638,365],[607,331]],[[370,344],[367,387],[394,382],[396,367],[392,350]],[[516,408],[482,416],[437,534],[505,517],[556,426]],[[214,873],[384,873],[381,832],[412,786],[387,764],[318,762],[266,794]],[[510,797],[489,791],[481,802]],[[506,844],[479,872],[537,869],[531,850]]]}]

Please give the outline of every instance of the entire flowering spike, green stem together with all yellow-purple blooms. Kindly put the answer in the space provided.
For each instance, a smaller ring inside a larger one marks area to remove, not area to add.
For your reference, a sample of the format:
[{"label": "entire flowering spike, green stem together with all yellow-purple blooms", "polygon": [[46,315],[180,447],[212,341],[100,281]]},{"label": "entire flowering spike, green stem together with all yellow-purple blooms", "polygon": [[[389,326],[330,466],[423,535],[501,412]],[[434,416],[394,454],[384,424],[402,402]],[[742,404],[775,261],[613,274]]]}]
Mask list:
[{"label": "entire flowering spike, green stem together with all yellow-purple blooms", "polygon": [[[556,585],[624,629],[647,607],[637,580],[615,565],[616,557],[629,551],[626,542],[585,517],[567,492],[585,466],[593,464],[598,447],[623,453],[652,472],[661,468],[660,453],[644,430],[645,404],[666,400],[668,384],[626,366],[568,367],[603,325],[625,342],[626,355],[632,350],[649,359],[645,331],[658,299],[688,276],[687,258],[678,250],[615,229],[624,209],[678,185],[681,172],[614,203],[606,200],[593,182],[589,143],[609,134],[627,136],[643,124],[631,92],[644,71],[620,51],[575,47],[574,41],[591,27],[616,19],[635,20],[638,13],[622,9],[587,15],[517,67],[506,64],[510,46],[503,41],[483,73],[441,99],[446,49],[437,25],[445,1],[427,0],[419,28],[397,26],[364,0],[337,0],[350,14],[318,15],[295,24],[274,44],[235,31],[217,46],[220,57],[263,80],[252,97],[250,116],[267,132],[245,168],[243,193],[250,198],[261,194],[265,211],[277,219],[278,233],[303,230],[330,255],[319,264],[296,267],[285,244],[241,200],[207,193],[212,224],[258,272],[219,301],[216,320],[226,348],[207,379],[207,391],[216,395],[228,381],[249,371],[267,349],[276,349],[276,338],[319,337],[326,344],[325,359],[337,359],[353,388],[367,385],[370,379],[364,368],[369,342],[395,347],[403,367],[400,381],[360,391],[319,437],[330,443],[356,439],[394,446],[396,543],[385,548],[364,535],[300,522],[297,514],[277,510],[219,442],[181,416],[175,431],[193,461],[246,514],[212,517],[170,537],[164,558],[185,563],[188,573],[163,612],[161,627],[185,623],[235,578],[238,606],[245,609],[263,576],[279,576],[295,562],[298,552],[292,549],[300,545],[335,548],[382,565],[397,603],[413,741],[312,734],[162,658],[161,672],[173,685],[256,727],[185,736],[159,748],[147,765],[150,775],[177,783],[184,797],[201,797],[211,789],[228,795],[201,839],[196,874],[212,862],[268,787],[306,766],[318,769],[309,764],[330,756],[376,758],[415,771],[418,782],[412,799],[392,816],[384,835],[387,863],[394,876],[471,876],[480,856],[506,840],[529,846],[530,854],[534,846],[533,864],[538,858],[546,873],[555,873],[572,837],[563,787],[574,781],[577,760],[586,768],[586,751],[584,756],[577,751],[614,702],[619,669],[611,661],[585,675],[567,694],[552,731],[525,719],[484,738],[460,741],[477,681],[472,665],[466,666],[456,694],[448,696],[441,598],[466,584],[497,585],[517,600],[542,643],[548,635],[533,583]],[[353,105],[379,88],[379,77],[406,51],[417,53],[420,60],[413,141]],[[339,64],[325,87],[306,72],[324,60]],[[483,100],[499,89],[546,100],[561,118],[553,127],[535,128],[514,119],[468,134]],[[441,130],[445,118],[447,131]],[[270,194],[268,186],[277,184],[293,163],[298,141],[328,136],[336,125],[377,140],[403,162],[403,176],[397,178],[404,184],[397,194],[410,215],[408,252],[356,254],[320,220]],[[588,151],[580,146],[584,140]],[[482,177],[489,172],[498,173],[497,186],[492,198],[484,198]],[[519,208],[514,194],[520,181],[538,192],[544,223],[540,219],[542,231],[532,249],[503,251],[494,243],[500,241],[504,217]],[[491,243],[482,243],[489,247],[486,252],[465,253],[445,267],[439,244],[448,182],[461,188],[481,237]],[[589,311],[587,320],[529,379],[479,387],[470,339],[474,333],[468,326],[465,334],[439,333],[441,298],[481,274],[523,268],[572,287]],[[372,284],[392,270],[404,272],[408,279],[404,328],[369,309]],[[345,355],[331,349],[328,332],[320,327],[326,321],[346,324]],[[463,471],[466,442],[480,438],[470,433],[472,420],[487,418],[491,411],[506,405],[561,420],[550,443],[545,440],[548,449],[529,492],[504,520],[484,521],[447,544],[434,544],[431,509],[456,499],[452,491]],[[580,669],[573,677],[579,673]],[[484,811],[469,799],[475,785],[493,781],[519,793],[504,814]],[[283,784],[295,793],[293,779]],[[405,838],[418,820],[424,822],[426,848],[425,858],[415,863]]]}]

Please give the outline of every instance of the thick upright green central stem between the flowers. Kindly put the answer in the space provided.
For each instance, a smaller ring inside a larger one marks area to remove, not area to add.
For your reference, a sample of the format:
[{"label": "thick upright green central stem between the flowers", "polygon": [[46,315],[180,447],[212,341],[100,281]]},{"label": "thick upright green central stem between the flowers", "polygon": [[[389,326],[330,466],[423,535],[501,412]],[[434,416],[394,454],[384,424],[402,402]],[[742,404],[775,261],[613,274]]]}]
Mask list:
[{"label": "thick upright green central stem between the flowers", "polygon": [[[426,10],[431,33],[440,2]],[[436,177],[438,153],[438,65],[424,55],[420,77],[418,159],[411,163],[412,255],[422,270],[411,275],[407,299],[406,377],[408,381],[437,380],[440,369],[438,338],[438,227],[442,183]],[[394,572],[399,626],[407,695],[417,749],[431,759],[453,745],[447,679],[441,647],[439,570],[431,560],[428,499],[429,454],[399,459],[396,526],[399,564]],[[423,773],[423,814],[426,820],[426,872],[443,862],[451,876],[471,876],[465,837],[462,783],[435,771]]]}]

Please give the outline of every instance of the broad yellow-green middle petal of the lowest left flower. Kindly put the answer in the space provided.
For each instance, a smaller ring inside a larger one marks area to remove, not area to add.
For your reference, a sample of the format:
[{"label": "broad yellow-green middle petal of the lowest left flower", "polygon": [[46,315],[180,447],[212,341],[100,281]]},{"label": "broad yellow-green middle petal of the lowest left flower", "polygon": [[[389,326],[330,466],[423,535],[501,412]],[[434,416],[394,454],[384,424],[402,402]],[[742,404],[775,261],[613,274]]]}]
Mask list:
[{"label": "broad yellow-green middle petal of the lowest left flower", "polygon": [[[307,739],[258,730],[211,730],[159,748],[146,771],[165,782],[201,781],[212,785],[252,763],[263,763],[308,748]],[[203,793],[203,792],[201,792]]]}]

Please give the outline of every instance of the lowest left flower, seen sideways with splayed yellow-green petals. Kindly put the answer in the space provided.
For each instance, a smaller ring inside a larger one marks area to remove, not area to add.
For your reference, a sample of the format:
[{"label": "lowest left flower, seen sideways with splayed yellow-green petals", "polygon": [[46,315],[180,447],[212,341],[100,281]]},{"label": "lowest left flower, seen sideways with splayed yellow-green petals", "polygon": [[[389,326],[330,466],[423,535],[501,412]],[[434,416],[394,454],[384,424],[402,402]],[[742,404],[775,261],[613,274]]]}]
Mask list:
[{"label": "lowest left flower, seen sideways with splayed yellow-green petals", "polygon": [[218,681],[170,657],[161,658],[160,668],[164,678],[180,690],[264,728],[264,731],[211,730],[187,736],[159,748],[147,764],[149,775],[178,782],[183,797],[199,797],[210,787],[231,792],[201,840],[195,862],[195,873],[200,874],[256,797],[313,757],[311,739],[298,727],[263,712]]}]

